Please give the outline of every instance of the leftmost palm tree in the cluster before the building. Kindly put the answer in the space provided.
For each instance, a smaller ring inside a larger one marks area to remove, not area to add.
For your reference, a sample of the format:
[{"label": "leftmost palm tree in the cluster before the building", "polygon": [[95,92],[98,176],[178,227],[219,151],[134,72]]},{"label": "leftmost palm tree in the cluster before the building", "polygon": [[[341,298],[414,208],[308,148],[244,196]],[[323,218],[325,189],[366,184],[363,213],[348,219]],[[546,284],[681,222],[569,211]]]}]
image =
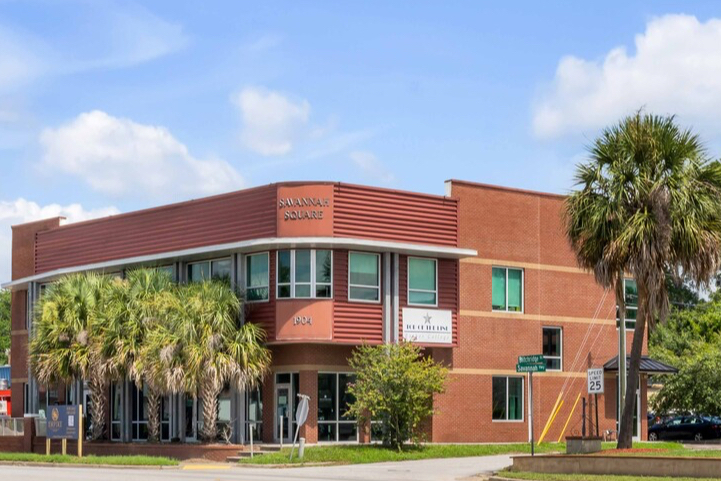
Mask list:
[{"label": "leftmost palm tree in the cluster before the building", "polygon": [[91,332],[108,291],[107,276],[73,274],[53,283],[35,306],[30,363],[39,383],[72,384],[88,381],[92,409],[92,438],[105,427],[106,388],[103,362]]}]

